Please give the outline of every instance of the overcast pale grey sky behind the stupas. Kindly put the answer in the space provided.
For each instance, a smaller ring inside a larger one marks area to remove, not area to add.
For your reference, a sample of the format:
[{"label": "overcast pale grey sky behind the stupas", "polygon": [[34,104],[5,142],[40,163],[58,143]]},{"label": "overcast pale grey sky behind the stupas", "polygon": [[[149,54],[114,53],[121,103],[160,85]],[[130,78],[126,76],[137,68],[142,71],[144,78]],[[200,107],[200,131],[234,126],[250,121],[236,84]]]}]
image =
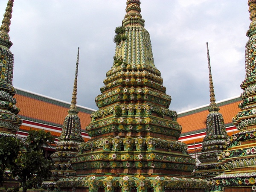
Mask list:
[{"label": "overcast pale grey sky behind the stupas", "polygon": [[[7,1],[0,0],[1,20]],[[97,109],[125,7],[126,0],[15,0],[9,32],[14,87],[71,102],[80,47],[77,104]],[[206,42],[216,100],[240,95],[247,0],[141,0],[141,9],[171,110],[209,104]]]}]

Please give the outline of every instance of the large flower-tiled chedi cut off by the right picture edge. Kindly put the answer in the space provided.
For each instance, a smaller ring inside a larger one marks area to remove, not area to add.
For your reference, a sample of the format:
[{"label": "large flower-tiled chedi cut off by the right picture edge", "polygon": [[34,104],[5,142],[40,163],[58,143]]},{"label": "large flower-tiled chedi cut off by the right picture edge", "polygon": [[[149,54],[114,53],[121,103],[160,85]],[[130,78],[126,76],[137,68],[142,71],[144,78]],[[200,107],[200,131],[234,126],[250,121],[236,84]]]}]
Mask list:
[{"label": "large flower-tiled chedi cut off by the right picture edge", "polygon": [[245,49],[245,79],[241,84],[241,111],[233,118],[239,130],[227,140],[228,149],[218,159],[226,169],[214,177],[213,191],[256,191],[256,0],[248,0],[250,29]]}]

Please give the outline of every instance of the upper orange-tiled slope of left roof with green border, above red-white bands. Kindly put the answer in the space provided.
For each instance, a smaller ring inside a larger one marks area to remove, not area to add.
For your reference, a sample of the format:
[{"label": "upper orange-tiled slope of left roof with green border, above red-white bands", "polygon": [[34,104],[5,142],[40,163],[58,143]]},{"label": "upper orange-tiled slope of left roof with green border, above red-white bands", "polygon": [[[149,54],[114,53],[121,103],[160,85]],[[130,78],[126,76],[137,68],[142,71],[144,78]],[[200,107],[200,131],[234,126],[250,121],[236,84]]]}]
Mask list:
[{"label": "upper orange-tiled slope of left roof with green border, above red-white bands", "polygon": [[[15,98],[19,101],[17,106],[21,108],[19,115],[22,119],[54,126],[63,125],[71,103],[20,88],[16,88],[16,90]],[[90,114],[95,110],[81,105],[77,105],[77,108],[81,119],[81,128],[84,129],[90,122]]]}]

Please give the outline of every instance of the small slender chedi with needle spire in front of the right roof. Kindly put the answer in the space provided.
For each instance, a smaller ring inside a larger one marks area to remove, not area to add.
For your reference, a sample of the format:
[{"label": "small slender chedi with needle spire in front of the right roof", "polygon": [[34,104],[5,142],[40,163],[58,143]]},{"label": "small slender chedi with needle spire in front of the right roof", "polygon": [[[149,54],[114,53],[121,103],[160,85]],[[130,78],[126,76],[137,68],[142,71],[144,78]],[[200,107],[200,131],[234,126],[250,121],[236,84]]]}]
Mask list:
[{"label": "small slender chedi with needle spire in front of the right roof", "polygon": [[195,166],[193,176],[202,177],[205,179],[212,178],[224,172],[224,169],[217,162],[218,154],[221,154],[227,148],[227,135],[224,119],[219,108],[215,103],[215,94],[212,81],[212,72],[210,65],[210,56],[207,43],[207,57],[209,68],[209,88],[210,88],[210,105],[208,108],[209,114],[206,119],[206,136],[204,137],[201,153],[198,155],[198,160],[201,162]]}]

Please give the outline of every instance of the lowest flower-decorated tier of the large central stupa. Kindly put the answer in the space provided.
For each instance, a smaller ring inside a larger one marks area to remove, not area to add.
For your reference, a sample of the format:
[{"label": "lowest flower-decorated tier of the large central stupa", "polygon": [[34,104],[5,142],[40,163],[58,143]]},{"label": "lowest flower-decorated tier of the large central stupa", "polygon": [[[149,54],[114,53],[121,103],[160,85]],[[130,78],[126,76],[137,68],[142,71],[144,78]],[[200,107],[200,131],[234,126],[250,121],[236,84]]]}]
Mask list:
[{"label": "lowest flower-decorated tier of the large central stupa", "polygon": [[56,184],[62,192],[208,192],[208,183],[184,177],[126,175],[65,177]]}]

